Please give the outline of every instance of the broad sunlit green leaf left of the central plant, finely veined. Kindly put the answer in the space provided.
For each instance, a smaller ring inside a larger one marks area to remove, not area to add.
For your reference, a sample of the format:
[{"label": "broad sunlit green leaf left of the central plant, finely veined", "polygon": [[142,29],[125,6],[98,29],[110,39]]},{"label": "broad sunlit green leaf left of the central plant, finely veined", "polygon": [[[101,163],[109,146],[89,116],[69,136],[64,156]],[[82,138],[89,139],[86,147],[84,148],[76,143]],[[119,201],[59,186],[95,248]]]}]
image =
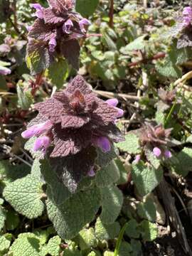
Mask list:
[{"label": "broad sunlit green leaf left of the central plant, finely veined", "polygon": [[38,179],[28,174],[24,178],[18,178],[9,183],[4,189],[4,198],[18,213],[27,218],[37,218],[43,213],[44,204],[42,185]]}]

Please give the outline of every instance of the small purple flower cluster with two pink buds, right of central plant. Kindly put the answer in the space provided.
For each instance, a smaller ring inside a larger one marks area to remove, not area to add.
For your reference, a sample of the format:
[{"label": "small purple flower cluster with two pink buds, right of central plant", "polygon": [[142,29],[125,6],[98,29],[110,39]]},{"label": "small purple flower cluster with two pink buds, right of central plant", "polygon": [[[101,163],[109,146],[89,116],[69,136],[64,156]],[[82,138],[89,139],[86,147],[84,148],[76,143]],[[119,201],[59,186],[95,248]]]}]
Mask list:
[{"label": "small purple flower cluster with two pink buds, right of central plant", "polygon": [[168,149],[170,134],[171,129],[164,129],[162,124],[156,126],[146,124],[142,128],[140,139],[143,146],[152,147],[154,156],[168,159],[171,158],[171,151]]}]

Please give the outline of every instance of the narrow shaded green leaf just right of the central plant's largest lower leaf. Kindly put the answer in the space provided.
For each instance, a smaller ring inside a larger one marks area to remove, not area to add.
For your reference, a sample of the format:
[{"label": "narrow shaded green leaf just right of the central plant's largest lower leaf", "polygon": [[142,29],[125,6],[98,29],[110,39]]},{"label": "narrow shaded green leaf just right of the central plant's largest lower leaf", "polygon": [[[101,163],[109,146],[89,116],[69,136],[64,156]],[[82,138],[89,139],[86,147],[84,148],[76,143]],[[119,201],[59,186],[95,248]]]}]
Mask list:
[{"label": "narrow shaded green leaf just right of the central plant's largest lower leaf", "polygon": [[116,186],[100,188],[102,195],[102,223],[114,223],[117,219],[123,203],[122,192]]}]

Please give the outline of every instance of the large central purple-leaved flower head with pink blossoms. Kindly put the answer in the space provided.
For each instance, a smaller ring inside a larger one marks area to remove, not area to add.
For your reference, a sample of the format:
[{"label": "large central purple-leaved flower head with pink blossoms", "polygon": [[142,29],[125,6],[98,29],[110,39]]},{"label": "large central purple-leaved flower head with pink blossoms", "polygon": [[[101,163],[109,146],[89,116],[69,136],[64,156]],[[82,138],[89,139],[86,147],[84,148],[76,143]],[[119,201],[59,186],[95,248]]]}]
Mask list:
[{"label": "large central purple-leaved flower head with pink blossoms", "polygon": [[124,140],[116,126],[123,115],[117,104],[116,99],[98,98],[78,75],[65,90],[36,103],[38,115],[22,136],[36,137],[33,151],[41,151],[65,186],[75,191],[82,176],[94,176],[99,169],[99,152],[110,154],[113,143]]}]

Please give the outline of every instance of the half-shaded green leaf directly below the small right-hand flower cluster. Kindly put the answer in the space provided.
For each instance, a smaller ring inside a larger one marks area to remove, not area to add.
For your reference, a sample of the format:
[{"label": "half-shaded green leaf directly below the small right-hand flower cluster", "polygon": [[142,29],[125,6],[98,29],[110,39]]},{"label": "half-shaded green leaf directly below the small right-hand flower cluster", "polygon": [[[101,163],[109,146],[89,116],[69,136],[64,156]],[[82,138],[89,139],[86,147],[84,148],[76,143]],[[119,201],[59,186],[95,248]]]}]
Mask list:
[{"label": "half-shaded green leaf directly below the small right-hand flower cluster", "polygon": [[142,161],[132,165],[132,178],[141,196],[150,193],[161,181],[163,170],[146,166]]}]

